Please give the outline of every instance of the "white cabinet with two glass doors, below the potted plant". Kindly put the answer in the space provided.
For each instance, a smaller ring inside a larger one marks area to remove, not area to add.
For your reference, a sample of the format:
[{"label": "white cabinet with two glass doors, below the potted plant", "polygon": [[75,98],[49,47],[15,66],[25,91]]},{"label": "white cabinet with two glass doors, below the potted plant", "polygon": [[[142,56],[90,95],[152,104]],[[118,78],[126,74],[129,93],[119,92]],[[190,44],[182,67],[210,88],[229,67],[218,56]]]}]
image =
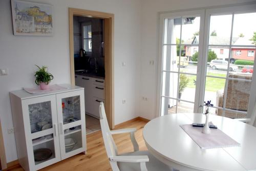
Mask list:
[{"label": "white cabinet with two glass doors, below the potted plant", "polygon": [[66,86],[54,93],[10,92],[18,160],[38,170],[86,152],[84,91]]}]

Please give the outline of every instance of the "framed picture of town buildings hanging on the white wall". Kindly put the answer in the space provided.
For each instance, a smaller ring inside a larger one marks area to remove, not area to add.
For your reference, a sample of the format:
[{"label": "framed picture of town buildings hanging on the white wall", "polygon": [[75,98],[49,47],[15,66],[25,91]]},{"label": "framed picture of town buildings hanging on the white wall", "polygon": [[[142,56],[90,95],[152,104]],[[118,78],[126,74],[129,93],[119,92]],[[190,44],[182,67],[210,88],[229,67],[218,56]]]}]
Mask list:
[{"label": "framed picture of town buildings hanging on the white wall", "polygon": [[52,5],[11,0],[11,7],[14,35],[53,35]]}]

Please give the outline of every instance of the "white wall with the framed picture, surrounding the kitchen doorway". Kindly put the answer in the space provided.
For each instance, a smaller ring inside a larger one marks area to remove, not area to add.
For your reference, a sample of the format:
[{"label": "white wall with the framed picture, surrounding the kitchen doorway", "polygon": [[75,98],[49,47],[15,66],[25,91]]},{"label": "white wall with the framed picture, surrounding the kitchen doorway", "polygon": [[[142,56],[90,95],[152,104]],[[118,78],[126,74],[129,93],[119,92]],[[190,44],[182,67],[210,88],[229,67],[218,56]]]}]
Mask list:
[{"label": "white wall with the framed picture, surrounding the kitchen doorway", "polygon": [[[30,0],[32,1],[32,0]],[[140,10],[137,0],[34,0],[54,6],[54,35],[51,37],[14,36],[10,0],[0,1],[0,118],[7,162],[17,159],[12,127],[9,91],[34,85],[37,65],[46,65],[53,74],[52,84],[70,83],[68,7],[115,14],[114,78],[115,124],[138,116],[140,83]],[[126,66],[122,67],[122,61]],[[122,99],[126,104],[122,104]]]}]

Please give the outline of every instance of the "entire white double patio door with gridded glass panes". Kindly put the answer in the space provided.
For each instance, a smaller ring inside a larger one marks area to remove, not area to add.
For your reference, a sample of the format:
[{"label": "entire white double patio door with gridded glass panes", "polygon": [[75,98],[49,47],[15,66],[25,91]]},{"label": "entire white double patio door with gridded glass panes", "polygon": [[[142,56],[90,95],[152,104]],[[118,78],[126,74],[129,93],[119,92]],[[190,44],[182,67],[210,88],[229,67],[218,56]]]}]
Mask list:
[{"label": "entire white double patio door with gridded glass panes", "polygon": [[[255,5],[160,15],[158,112],[250,118],[255,103],[253,74]],[[246,19],[245,19],[246,18]]]}]

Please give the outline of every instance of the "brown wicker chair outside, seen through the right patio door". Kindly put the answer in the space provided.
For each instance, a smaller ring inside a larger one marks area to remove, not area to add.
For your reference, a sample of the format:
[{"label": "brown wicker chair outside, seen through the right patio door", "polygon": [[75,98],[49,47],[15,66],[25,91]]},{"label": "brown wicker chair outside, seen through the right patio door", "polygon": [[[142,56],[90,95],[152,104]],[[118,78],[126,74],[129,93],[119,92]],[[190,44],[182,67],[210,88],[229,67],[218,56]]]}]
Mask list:
[{"label": "brown wicker chair outside, seen through the right patio door", "polygon": [[[229,74],[229,78],[251,80],[252,75]],[[238,111],[247,111],[250,96],[250,86],[251,82],[248,81],[228,80],[226,108]],[[219,107],[223,107],[223,92],[223,90],[219,90],[216,94],[216,104],[218,104]],[[217,109],[216,113],[217,115],[222,115],[222,109]],[[230,118],[245,118],[246,114],[225,111],[225,116]]]}]

